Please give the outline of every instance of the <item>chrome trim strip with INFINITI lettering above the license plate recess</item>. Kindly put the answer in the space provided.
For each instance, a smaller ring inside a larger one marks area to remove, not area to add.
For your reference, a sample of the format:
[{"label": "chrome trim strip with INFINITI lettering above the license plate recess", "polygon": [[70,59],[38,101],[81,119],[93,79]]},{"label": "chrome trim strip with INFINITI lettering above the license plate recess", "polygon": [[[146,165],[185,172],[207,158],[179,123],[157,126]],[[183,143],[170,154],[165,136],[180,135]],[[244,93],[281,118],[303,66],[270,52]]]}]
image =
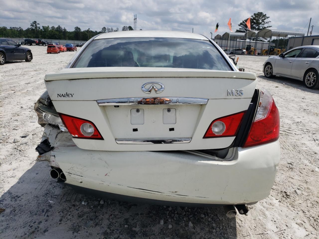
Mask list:
[{"label": "chrome trim strip with INFINITI lettering above the license plate recess", "polygon": [[208,99],[190,97],[137,97],[102,99],[96,102],[98,105],[206,105]]}]

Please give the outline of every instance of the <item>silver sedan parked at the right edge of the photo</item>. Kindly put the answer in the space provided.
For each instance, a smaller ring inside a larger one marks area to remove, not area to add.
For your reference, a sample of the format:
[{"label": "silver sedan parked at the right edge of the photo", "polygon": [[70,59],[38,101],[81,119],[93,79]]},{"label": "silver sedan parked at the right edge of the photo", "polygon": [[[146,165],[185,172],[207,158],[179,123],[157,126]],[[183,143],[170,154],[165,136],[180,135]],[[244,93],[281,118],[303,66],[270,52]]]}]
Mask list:
[{"label": "silver sedan parked at the right edge of the photo", "polygon": [[263,64],[267,78],[284,76],[303,81],[307,88],[319,88],[319,46],[293,48],[279,56],[270,56]]}]

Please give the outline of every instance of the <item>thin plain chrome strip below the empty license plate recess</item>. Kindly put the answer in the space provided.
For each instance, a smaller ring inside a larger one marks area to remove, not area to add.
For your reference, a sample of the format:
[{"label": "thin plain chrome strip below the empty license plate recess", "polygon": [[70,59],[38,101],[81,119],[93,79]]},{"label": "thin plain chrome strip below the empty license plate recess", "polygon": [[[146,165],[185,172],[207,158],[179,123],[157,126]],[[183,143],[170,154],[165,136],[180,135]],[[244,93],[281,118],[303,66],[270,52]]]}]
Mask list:
[{"label": "thin plain chrome strip below the empty license plate recess", "polygon": [[189,143],[192,138],[146,138],[146,139],[115,139],[118,144],[174,144]]}]

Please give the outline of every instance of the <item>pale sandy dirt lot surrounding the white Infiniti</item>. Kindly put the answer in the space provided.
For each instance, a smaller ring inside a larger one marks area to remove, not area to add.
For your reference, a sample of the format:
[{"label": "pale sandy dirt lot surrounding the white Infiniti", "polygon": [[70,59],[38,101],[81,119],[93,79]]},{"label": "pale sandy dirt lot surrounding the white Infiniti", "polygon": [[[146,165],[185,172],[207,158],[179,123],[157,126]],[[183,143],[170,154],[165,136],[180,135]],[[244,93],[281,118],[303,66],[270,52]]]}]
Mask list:
[{"label": "pale sandy dirt lot surrounding the white Infiniti", "polygon": [[5,209],[0,238],[319,237],[319,90],[286,78],[268,80],[262,73],[266,57],[246,56],[246,71],[257,74],[257,86],[268,89],[279,108],[281,163],[271,195],[248,215],[229,219],[222,208],[88,197],[51,179],[48,163],[35,163],[42,128],[33,105],[45,91],[44,75],[62,69],[74,53],[30,48],[32,62],[0,66],[0,208]]}]

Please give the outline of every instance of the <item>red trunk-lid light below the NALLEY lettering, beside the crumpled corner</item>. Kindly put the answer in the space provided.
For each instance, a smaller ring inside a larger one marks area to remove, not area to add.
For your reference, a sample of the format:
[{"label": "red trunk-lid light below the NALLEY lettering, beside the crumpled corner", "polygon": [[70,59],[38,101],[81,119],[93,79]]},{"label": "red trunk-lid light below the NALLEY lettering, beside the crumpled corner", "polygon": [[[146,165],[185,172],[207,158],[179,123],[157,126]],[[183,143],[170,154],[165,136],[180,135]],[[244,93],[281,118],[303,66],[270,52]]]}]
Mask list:
[{"label": "red trunk-lid light below the NALLEY lettering, beside the crumpled corner", "polygon": [[64,126],[68,129],[68,131],[74,138],[100,140],[103,139],[99,130],[91,121],[61,113],[59,113],[59,115]]}]

